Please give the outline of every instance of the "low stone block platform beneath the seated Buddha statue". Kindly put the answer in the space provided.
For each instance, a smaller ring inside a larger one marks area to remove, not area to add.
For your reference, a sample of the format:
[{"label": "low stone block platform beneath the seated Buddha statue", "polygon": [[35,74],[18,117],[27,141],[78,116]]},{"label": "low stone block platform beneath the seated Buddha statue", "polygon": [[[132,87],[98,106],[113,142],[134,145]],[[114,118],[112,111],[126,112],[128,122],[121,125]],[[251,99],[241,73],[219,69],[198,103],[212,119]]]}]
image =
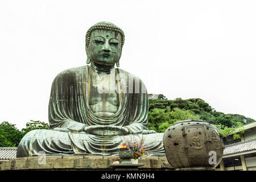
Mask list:
[{"label": "low stone block platform beneath the seated Buddha statue", "polygon": [[[121,159],[119,156],[86,156],[86,155],[57,155],[32,156],[15,158],[0,162],[1,170],[113,170],[114,161]],[[138,163],[144,164],[139,170],[172,170],[166,157],[142,157]]]}]

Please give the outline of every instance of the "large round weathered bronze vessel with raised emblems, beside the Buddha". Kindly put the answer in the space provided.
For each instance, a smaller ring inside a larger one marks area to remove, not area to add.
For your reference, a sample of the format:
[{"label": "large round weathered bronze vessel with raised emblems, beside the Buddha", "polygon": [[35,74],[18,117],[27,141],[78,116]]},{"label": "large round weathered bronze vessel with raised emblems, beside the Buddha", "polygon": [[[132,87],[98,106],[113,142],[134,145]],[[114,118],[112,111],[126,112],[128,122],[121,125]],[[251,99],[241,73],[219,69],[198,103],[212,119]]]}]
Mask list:
[{"label": "large round weathered bronze vessel with raised emblems, beside the Buddha", "polygon": [[218,129],[208,122],[180,121],[164,132],[168,162],[179,170],[212,170],[220,163],[224,145]]}]

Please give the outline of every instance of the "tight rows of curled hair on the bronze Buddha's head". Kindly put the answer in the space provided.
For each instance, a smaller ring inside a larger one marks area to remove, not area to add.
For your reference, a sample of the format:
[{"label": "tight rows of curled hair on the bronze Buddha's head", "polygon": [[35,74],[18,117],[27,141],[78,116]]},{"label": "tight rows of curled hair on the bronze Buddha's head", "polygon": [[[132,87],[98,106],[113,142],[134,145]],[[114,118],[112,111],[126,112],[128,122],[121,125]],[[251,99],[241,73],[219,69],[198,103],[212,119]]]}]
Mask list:
[{"label": "tight rows of curled hair on the bronze Buddha's head", "polygon": [[88,31],[86,32],[86,36],[85,36],[86,46],[89,45],[90,35],[92,34],[92,32],[94,30],[112,30],[112,31],[118,32],[122,36],[121,48],[123,47],[123,44],[125,44],[125,34],[123,33],[121,28],[119,28],[118,26],[116,26],[115,24],[110,23],[110,22],[98,22],[98,23],[94,24],[92,27],[90,27],[88,29]]}]

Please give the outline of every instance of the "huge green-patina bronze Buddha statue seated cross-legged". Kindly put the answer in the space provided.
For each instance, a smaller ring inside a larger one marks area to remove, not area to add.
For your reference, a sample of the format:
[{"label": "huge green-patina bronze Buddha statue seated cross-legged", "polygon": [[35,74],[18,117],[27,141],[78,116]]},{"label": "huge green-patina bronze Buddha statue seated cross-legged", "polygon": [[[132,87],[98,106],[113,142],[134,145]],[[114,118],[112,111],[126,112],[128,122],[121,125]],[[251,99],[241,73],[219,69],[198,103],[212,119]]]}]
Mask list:
[{"label": "huge green-patina bronze Buddha statue seated cross-legged", "polygon": [[123,140],[141,139],[151,155],[165,155],[163,133],[148,130],[147,90],[123,71],[119,59],[125,35],[113,23],[86,32],[87,64],[55,77],[49,99],[49,130],[32,130],[20,141],[17,157],[117,155]]}]

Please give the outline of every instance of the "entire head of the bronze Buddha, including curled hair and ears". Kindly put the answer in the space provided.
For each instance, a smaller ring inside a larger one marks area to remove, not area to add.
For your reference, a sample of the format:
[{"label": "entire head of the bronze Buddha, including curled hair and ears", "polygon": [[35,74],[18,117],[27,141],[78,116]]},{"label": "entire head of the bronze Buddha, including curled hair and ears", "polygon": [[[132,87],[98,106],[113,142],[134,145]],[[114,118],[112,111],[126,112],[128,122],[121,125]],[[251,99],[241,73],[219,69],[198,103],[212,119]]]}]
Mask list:
[{"label": "entire head of the bronze Buddha, including curled hair and ears", "polygon": [[125,34],[121,28],[110,22],[94,24],[86,32],[87,64],[92,61],[100,65],[119,67],[119,59],[125,42]]}]

